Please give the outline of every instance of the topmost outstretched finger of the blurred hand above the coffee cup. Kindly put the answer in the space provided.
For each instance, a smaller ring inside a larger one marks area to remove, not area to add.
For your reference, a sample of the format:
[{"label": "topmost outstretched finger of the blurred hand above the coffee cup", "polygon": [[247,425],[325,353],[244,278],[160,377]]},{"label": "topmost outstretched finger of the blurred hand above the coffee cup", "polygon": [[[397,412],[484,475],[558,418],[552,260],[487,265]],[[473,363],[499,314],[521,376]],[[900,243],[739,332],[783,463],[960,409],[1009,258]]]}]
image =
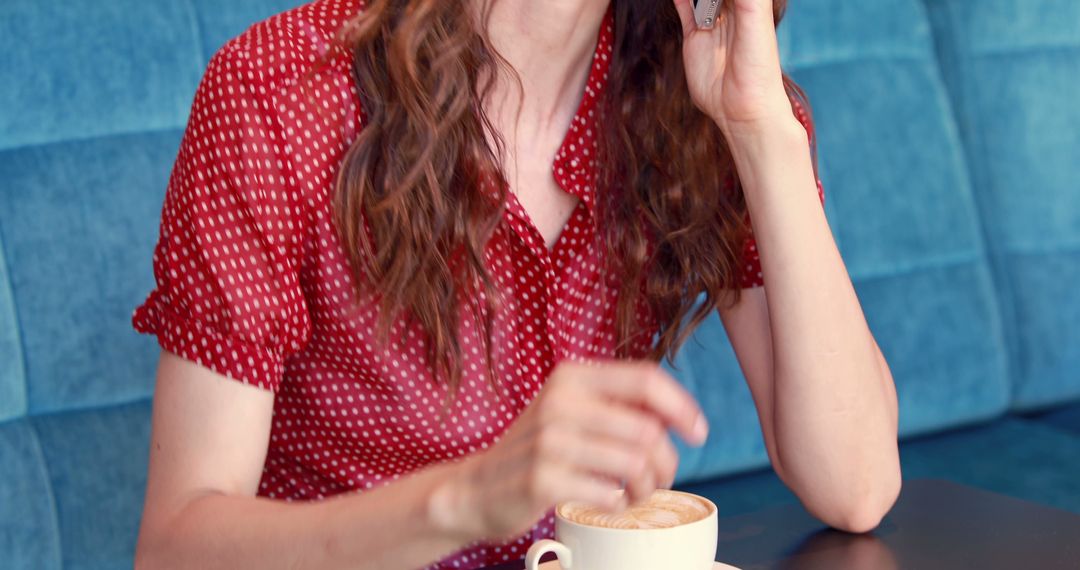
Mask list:
[{"label": "topmost outstretched finger of the blurred hand above the coffee cup", "polygon": [[654,413],[691,445],[701,445],[708,423],[693,396],[659,366],[613,363],[586,368],[586,382],[599,393],[623,405]]}]

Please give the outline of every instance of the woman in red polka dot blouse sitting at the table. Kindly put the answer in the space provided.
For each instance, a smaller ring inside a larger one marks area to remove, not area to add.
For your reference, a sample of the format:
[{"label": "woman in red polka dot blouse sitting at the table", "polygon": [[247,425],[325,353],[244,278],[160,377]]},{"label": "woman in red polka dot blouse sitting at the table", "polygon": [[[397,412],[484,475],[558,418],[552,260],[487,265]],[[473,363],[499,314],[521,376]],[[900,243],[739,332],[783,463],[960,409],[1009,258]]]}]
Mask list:
[{"label": "woman in red polka dot blouse sitting at the table", "polygon": [[657,362],[714,309],[777,473],[877,525],[895,393],[783,2],[689,2],[315,0],[215,54],[134,316],[163,348],[137,566],[521,557],[556,502],[671,485],[667,430],[707,428]]}]

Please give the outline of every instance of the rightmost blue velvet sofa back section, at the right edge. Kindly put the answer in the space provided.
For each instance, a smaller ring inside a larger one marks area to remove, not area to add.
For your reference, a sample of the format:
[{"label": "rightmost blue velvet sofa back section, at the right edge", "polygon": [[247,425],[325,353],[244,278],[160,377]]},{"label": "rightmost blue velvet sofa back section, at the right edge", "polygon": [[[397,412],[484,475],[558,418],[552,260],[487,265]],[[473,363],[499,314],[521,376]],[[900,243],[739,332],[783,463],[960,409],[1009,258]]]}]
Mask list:
[{"label": "rightmost blue velvet sofa back section, at the right edge", "polygon": [[927,4],[1009,324],[1013,406],[1080,397],[1080,3]]}]

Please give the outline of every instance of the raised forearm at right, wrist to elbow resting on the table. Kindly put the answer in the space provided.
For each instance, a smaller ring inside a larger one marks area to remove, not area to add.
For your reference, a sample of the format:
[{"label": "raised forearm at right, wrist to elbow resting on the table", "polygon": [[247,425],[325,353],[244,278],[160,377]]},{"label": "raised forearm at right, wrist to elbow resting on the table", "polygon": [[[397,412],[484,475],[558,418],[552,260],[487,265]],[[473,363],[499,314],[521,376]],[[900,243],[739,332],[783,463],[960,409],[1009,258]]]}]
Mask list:
[{"label": "raised forearm at right, wrist to elbow resting on the table", "polygon": [[768,291],[781,475],[827,522],[865,526],[900,485],[892,378],[829,232],[801,125],[732,147]]}]

